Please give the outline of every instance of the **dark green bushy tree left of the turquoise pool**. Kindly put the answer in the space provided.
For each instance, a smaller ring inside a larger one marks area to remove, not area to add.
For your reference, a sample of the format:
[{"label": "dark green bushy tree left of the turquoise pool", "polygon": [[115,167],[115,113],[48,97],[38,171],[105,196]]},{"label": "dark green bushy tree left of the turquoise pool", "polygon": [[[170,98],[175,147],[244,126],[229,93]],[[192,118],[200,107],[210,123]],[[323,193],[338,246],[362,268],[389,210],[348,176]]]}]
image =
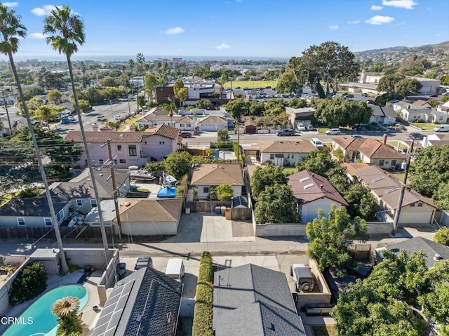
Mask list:
[{"label": "dark green bushy tree left of the turquoise pool", "polygon": [[40,262],[25,266],[14,279],[8,299],[11,306],[41,295],[47,288],[47,274]]}]

